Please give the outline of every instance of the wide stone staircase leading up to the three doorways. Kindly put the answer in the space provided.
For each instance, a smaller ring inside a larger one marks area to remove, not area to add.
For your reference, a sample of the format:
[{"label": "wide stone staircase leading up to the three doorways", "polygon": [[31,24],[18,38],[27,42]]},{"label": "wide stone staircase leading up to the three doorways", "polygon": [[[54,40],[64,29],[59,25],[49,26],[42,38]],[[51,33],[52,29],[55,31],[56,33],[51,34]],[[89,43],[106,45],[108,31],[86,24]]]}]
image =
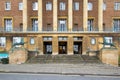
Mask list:
[{"label": "wide stone staircase leading up to the three doorways", "polygon": [[96,56],[87,55],[39,55],[30,58],[27,63],[101,63]]}]

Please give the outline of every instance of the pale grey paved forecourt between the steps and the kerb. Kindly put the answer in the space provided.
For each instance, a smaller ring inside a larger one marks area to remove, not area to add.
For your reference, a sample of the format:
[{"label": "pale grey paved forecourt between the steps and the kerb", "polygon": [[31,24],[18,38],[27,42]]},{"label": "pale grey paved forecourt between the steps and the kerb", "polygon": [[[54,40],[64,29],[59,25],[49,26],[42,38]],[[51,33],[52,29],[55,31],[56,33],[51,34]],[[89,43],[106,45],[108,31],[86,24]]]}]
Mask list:
[{"label": "pale grey paved forecourt between the steps and the kerb", "polygon": [[0,64],[0,72],[120,76],[120,67],[106,64]]}]

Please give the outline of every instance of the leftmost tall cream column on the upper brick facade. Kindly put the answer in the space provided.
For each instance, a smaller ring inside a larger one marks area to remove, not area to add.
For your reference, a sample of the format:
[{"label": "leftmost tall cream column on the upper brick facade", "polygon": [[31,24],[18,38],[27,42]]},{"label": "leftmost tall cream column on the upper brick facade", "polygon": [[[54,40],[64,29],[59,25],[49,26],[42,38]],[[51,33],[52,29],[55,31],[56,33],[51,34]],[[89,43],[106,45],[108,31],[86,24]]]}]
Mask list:
[{"label": "leftmost tall cream column on the upper brick facade", "polygon": [[23,31],[27,31],[28,14],[27,14],[27,0],[23,0]]}]

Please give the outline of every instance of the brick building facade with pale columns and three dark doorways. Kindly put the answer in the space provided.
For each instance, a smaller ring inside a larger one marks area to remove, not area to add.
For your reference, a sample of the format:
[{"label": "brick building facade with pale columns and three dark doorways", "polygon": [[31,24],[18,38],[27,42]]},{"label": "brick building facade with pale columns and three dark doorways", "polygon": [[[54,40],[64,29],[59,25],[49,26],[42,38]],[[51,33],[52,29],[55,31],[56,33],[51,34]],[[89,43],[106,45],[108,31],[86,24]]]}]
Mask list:
[{"label": "brick building facade with pale columns and three dark doorways", "polygon": [[120,49],[120,0],[2,0],[0,49],[26,42],[39,54],[86,54],[102,48]]}]

